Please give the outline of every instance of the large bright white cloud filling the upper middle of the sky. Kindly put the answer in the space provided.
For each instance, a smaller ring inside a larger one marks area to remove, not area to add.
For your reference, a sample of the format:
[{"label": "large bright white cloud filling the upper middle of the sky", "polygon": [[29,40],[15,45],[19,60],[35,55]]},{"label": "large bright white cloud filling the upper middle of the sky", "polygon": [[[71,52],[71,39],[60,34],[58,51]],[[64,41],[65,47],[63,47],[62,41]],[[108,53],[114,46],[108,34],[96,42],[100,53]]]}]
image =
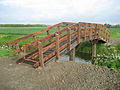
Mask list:
[{"label": "large bright white cloud filling the upper middle of the sky", "polygon": [[[64,19],[99,17],[110,11],[114,1],[115,0],[2,0],[0,1],[0,5],[29,9],[31,10],[29,17],[32,19]],[[34,13],[32,11],[34,11]]]}]

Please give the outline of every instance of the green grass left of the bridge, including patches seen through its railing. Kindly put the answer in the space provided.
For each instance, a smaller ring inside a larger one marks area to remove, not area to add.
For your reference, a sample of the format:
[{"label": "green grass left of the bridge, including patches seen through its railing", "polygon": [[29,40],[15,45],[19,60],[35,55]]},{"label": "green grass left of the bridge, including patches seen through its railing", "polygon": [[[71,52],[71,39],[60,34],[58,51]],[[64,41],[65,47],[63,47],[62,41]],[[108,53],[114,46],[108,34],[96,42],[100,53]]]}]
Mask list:
[{"label": "green grass left of the bridge, including patches seen through its railing", "polygon": [[[45,29],[45,27],[0,27],[0,46],[5,45],[7,42],[16,40],[18,38],[21,38],[23,36],[26,36],[28,34],[31,34],[36,31],[40,31],[42,29]],[[53,28],[50,30],[50,33],[53,33],[56,31],[56,28]],[[47,35],[46,32],[41,33],[37,35],[36,38],[45,37]],[[22,42],[20,42],[20,46],[23,45],[23,43],[32,42],[33,38],[28,38]]]}]

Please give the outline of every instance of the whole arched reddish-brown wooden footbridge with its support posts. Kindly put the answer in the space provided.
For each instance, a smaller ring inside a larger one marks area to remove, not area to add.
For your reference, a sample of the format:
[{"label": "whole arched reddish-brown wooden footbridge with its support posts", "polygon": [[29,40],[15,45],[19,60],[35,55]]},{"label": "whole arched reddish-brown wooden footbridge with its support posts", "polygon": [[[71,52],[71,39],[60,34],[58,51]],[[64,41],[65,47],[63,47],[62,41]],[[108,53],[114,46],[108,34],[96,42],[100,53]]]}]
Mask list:
[{"label": "whole arched reddish-brown wooden footbridge with its support posts", "polygon": [[[15,48],[12,53],[18,54],[18,61],[38,67],[51,60],[58,60],[68,52],[70,60],[74,60],[75,49],[85,41],[92,42],[92,56],[95,57],[96,43],[108,42],[110,34],[102,24],[62,22],[11,41],[7,45]],[[24,43],[25,41],[28,43]]]}]

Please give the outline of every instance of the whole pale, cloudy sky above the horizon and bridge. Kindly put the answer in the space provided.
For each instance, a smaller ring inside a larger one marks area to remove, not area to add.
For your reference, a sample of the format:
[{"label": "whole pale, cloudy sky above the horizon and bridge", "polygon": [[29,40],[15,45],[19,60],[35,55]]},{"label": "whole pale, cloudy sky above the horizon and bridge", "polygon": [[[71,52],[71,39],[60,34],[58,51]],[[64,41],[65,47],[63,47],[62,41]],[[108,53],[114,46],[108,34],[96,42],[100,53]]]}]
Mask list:
[{"label": "whole pale, cloudy sky above the horizon and bridge", "polygon": [[0,0],[0,24],[120,24],[120,0]]}]

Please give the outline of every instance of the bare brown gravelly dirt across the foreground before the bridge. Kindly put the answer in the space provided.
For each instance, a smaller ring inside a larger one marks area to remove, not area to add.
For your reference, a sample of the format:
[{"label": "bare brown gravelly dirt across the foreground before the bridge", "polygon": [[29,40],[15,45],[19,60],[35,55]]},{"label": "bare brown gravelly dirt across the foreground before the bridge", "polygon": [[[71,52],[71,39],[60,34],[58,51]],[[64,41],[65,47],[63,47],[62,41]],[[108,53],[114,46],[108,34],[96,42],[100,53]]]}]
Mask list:
[{"label": "bare brown gravelly dirt across the foreground before the bridge", "polygon": [[120,73],[70,61],[34,69],[0,58],[0,90],[120,90]]}]

